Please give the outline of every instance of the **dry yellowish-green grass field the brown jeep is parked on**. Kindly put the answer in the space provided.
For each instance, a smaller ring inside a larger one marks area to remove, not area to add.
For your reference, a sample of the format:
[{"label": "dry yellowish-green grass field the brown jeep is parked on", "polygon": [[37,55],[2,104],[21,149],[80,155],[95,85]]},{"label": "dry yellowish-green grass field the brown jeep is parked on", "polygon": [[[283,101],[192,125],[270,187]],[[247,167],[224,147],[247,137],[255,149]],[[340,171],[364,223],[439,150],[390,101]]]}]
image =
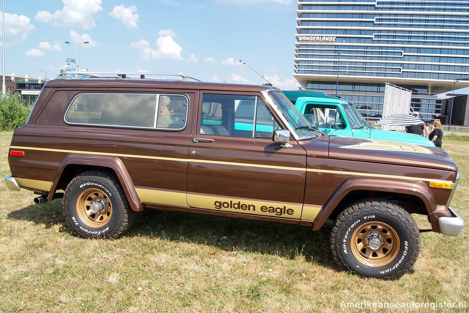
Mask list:
[{"label": "dry yellowish-green grass field the brown jeep is parked on", "polygon": [[[0,132],[3,177],[10,138]],[[461,170],[452,206],[467,221],[469,142],[445,137],[443,147]],[[347,309],[342,301],[469,306],[467,227],[458,237],[422,233],[414,271],[381,281],[340,271],[325,231],[146,211],[117,240],[83,240],[64,225],[61,200],[33,205],[30,191],[0,191],[0,312],[434,311]]]}]

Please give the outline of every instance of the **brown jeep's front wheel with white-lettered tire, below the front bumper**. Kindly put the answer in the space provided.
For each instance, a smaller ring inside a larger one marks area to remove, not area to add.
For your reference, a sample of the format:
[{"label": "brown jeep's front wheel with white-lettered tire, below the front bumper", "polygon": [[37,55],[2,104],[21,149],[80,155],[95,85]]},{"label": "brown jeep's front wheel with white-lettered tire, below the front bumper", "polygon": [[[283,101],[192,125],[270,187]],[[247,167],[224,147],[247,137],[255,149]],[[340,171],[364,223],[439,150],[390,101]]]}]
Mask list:
[{"label": "brown jeep's front wheel with white-lettered tire, below the front bumper", "polygon": [[398,204],[368,199],[342,211],[331,232],[331,250],[342,269],[362,277],[397,279],[420,251],[420,233]]}]

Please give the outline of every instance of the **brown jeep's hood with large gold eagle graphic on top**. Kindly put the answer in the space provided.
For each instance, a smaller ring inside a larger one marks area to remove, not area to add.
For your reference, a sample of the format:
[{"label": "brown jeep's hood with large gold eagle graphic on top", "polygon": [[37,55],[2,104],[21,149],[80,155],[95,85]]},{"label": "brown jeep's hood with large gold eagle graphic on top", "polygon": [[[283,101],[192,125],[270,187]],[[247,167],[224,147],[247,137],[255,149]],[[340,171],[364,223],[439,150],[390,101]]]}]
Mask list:
[{"label": "brown jeep's hood with large gold eagle graphic on top", "polygon": [[[454,172],[458,170],[453,159],[441,148],[379,139],[328,137],[329,151],[327,157],[329,159],[434,168]],[[324,140],[321,141],[325,144]],[[318,154],[316,145],[310,146],[307,144],[303,147],[306,149],[308,156]]]}]

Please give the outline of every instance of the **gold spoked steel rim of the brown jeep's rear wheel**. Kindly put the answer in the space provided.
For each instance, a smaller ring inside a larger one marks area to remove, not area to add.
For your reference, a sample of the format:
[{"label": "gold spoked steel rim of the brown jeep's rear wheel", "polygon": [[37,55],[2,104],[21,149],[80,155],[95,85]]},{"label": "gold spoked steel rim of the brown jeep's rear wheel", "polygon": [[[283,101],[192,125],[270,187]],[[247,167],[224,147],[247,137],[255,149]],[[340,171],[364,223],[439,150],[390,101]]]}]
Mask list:
[{"label": "gold spoked steel rim of the brown jeep's rear wheel", "polygon": [[86,226],[99,228],[106,225],[112,216],[111,200],[99,189],[83,190],[76,199],[78,218]]}]

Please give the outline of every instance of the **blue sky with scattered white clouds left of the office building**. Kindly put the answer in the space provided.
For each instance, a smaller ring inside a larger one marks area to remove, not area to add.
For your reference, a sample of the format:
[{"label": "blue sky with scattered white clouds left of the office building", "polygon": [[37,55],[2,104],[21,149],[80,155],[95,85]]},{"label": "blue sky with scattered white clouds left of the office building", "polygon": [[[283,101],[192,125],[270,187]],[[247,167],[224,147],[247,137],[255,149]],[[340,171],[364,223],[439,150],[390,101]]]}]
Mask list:
[{"label": "blue sky with scattered white clouds left of the office building", "polygon": [[250,66],[296,89],[296,9],[294,0],[5,0],[5,73],[55,77],[75,58],[64,42],[89,41],[77,60],[90,71],[239,83],[242,60],[243,83],[262,81]]}]

